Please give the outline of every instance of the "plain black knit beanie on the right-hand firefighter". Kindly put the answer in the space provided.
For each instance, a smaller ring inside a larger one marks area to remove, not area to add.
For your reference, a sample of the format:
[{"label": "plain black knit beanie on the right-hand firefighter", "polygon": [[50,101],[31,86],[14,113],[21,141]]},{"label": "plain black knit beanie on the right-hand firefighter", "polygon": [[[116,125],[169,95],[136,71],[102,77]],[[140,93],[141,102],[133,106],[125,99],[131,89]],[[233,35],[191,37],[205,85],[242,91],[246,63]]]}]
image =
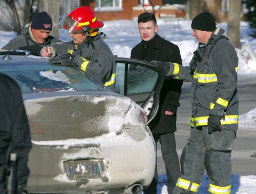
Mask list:
[{"label": "plain black knit beanie on the right-hand firefighter", "polygon": [[216,23],[214,17],[209,12],[205,11],[194,17],[191,28],[212,32],[216,29]]}]

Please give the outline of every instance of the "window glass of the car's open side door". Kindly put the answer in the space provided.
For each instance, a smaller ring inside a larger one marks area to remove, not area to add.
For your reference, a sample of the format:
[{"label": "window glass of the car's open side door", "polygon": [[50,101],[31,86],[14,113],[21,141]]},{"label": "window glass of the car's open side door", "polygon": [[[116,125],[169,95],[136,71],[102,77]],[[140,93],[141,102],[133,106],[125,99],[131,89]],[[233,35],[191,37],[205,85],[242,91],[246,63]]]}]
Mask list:
[{"label": "window glass of the car's open side door", "polygon": [[115,92],[134,95],[152,92],[158,73],[150,66],[117,63]]}]

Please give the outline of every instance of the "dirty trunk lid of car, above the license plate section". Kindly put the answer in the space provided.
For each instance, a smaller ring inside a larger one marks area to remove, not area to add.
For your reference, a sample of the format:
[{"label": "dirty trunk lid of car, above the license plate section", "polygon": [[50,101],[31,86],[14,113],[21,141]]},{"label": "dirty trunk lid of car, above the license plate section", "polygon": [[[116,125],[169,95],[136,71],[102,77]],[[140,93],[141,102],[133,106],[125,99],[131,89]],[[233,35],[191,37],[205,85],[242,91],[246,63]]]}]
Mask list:
[{"label": "dirty trunk lid of car, above the license plate section", "polygon": [[120,133],[124,114],[131,104],[130,98],[101,95],[54,96],[25,101],[33,141],[94,138],[112,131]]}]

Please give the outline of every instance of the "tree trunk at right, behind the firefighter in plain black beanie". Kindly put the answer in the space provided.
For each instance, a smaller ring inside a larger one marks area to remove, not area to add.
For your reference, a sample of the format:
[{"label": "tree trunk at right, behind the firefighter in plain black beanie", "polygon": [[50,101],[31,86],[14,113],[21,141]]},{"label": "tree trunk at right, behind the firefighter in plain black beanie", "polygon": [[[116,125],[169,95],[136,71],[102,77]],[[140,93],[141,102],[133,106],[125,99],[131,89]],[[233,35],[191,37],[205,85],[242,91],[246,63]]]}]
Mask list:
[{"label": "tree trunk at right, behind the firefighter in plain black beanie", "polygon": [[227,36],[234,48],[241,48],[240,43],[241,0],[229,0],[227,18]]}]

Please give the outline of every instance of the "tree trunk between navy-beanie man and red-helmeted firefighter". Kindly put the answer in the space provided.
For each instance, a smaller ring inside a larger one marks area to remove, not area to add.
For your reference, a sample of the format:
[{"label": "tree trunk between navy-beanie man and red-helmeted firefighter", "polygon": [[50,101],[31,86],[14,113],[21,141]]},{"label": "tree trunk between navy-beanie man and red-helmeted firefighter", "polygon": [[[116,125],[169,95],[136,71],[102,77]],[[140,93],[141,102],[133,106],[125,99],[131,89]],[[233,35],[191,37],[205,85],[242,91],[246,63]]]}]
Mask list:
[{"label": "tree trunk between navy-beanie man and red-helmeted firefighter", "polygon": [[52,17],[52,31],[51,35],[59,38],[59,29],[57,24],[59,23],[60,14],[60,0],[44,0],[39,1],[39,12],[46,11]]}]

